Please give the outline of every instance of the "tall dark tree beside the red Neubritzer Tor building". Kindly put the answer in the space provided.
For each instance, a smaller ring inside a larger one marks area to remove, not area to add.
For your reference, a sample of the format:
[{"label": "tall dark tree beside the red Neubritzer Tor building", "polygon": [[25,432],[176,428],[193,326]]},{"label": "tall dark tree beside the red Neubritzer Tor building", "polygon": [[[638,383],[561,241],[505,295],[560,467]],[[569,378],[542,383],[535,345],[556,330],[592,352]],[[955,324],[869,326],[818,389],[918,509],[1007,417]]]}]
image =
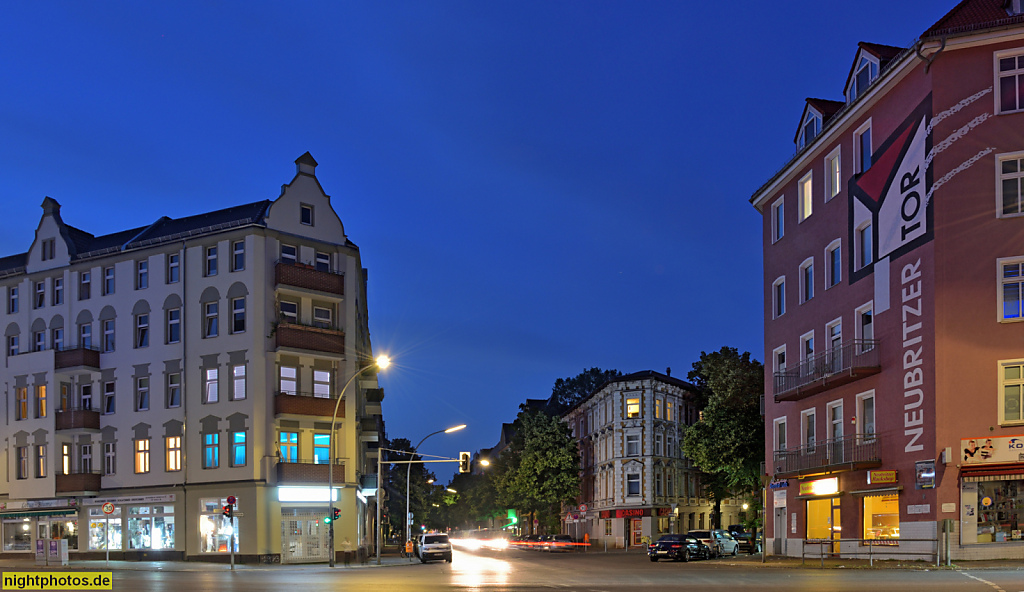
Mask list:
[{"label": "tall dark tree beside the red Neubritzer Tor building", "polygon": [[[696,387],[700,420],[686,428],[683,452],[707,474],[721,527],[722,499],[752,496],[761,489],[764,460],[764,368],[735,347],[700,352],[688,378]],[[760,506],[760,496],[757,506]]]}]

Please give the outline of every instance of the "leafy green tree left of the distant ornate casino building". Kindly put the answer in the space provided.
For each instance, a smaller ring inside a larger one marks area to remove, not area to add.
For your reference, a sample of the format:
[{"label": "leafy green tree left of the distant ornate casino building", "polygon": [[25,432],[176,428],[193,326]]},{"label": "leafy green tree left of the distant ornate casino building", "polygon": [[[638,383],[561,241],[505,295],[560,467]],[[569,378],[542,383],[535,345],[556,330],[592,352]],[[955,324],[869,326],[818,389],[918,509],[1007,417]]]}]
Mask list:
[{"label": "leafy green tree left of the distant ornate casino building", "polygon": [[580,451],[559,417],[520,409],[515,436],[496,463],[498,502],[557,524],[561,504],[580,495]]}]

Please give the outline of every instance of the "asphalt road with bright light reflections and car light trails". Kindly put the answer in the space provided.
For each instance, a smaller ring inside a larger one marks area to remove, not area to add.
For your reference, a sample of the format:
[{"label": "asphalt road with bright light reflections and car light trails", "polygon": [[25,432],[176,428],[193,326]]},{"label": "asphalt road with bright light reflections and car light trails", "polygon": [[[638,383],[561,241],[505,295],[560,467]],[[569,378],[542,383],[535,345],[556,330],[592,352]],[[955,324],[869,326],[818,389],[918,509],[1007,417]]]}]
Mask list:
[{"label": "asphalt road with bright light reflections and car light trails", "polygon": [[[102,570],[102,563],[73,570]],[[3,572],[12,570],[4,566]],[[25,570],[37,570],[28,566]],[[45,572],[45,569],[39,569]],[[10,589],[9,587],[7,589]],[[317,590],[411,592],[434,590],[712,590],[758,592],[1024,592],[1024,570],[868,569],[762,566],[756,557],[653,563],[640,553],[562,553],[456,550],[452,563],[383,567],[282,565],[245,567],[175,564],[114,570],[114,590],[167,592]]]}]

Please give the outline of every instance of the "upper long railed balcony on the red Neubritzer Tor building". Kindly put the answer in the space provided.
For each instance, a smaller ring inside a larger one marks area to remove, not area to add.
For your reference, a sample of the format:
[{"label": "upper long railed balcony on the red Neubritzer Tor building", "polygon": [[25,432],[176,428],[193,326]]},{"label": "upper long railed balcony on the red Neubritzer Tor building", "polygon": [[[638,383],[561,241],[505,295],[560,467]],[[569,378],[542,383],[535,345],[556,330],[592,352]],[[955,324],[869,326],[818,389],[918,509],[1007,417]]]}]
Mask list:
[{"label": "upper long railed balcony on the red Neubritzer Tor building", "polygon": [[776,372],[775,401],[800,400],[882,372],[879,341],[854,339],[800,363],[796,372]]}]

